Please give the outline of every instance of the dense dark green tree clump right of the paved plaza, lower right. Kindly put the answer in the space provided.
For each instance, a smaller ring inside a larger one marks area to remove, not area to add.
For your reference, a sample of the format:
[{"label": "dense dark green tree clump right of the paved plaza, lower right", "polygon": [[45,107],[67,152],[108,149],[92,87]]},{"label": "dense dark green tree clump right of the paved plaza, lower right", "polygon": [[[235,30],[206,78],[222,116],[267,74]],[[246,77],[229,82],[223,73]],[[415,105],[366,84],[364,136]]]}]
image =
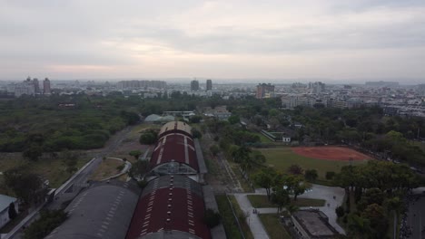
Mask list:
[{"label": "dense dark green tree clump right of the paved plaza, lower right", "polygon": [[403,198],[419,185],[419,177],[406,165],[371,160],[342,167],[335,182],[346,189],[347,201],[336,214],[349,236],[386,238],[389,221],[406,210]]}]

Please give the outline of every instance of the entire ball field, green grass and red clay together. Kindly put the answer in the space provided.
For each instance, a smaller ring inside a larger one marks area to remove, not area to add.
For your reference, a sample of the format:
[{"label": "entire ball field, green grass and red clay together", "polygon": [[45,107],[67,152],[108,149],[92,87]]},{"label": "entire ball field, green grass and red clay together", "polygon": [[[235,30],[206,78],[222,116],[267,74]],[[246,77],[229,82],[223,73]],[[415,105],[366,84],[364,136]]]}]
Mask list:
[{"label": "entire ball field, green grass and red clay together", "polygon": [[[320,153],[318,150],[321,149]],[[301,153],[300,149],[302,149]],[[329,149],[329,150],[327,150]],[[338,150],[336,150],[338,149]],[[332,155],[332,152],[338,152],[336,155],[354,156],[354,153],[358,153],[350,148],[338,148],[338,147],[310,147],[310,148],[260,148],[259,149],[266,158],[266,164],[270,167],[274,167],[276,170],[281,172],[286,172],[288,167],[293,164],[300,165],[304,170],[305,169],[316,169],[319,174],[319,179],[325,179],[326,172],[340,172],[342,166],[346,165],[357,165],[366,162],[369,158],[364,156],[361,158],[357,156],[357,160],[353,158],[350,162],[348,159],[333,159],[335,158]],[[298,151],[298,152],[297,152]],[[310,157],[307,157],[307,152],[314,152],[310,154]],[[314,158],[313,158],[314,157]]]}]

